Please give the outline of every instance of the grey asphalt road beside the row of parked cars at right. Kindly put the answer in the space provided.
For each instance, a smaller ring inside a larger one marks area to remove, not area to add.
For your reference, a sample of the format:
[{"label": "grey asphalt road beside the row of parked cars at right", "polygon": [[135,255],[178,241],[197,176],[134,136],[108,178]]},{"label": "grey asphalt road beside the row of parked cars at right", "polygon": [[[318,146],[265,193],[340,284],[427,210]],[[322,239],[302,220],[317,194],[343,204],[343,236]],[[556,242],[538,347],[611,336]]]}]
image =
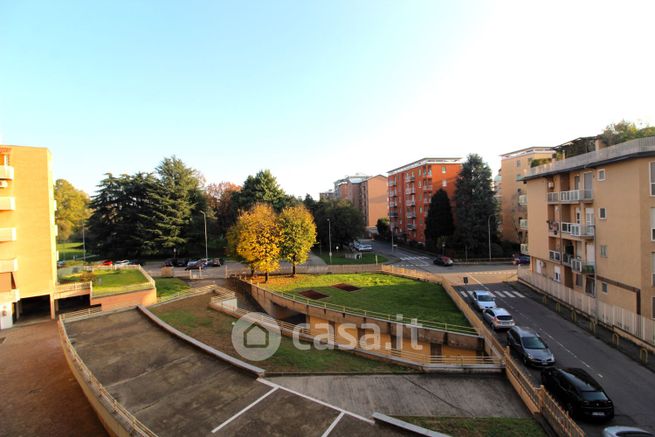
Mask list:
[{"label": "grey asphalt road beside the row of parked cars at right", "polygon": [[[528,287],[513,283],[514,288],[494,281],[488,274],[473,273],[468,277],[469,284],[458,286],[459,290],[491,291],[497,305],[507,309],[518,325],[539,332],[558,367],[582,368],[603,386],[614,402],[615,417],[604,423],[578,421],[588,435],[600,435],[603,428],[612,425],[639,426],[655,433],[655,374],[651,370],[547,309]],[[506,344],[505,333],[497,336]],[[539,385],[540,371],[527,368],[527,372]]]}]

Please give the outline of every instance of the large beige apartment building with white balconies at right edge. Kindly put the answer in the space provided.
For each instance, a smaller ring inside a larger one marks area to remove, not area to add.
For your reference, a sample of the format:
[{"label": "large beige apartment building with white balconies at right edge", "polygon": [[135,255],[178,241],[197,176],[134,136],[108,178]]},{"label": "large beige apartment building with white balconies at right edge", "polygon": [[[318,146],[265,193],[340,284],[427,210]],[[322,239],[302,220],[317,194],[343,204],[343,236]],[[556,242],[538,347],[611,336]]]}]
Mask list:
[{"label": "large beige apartment building with white balconies at right edge", "polygon": [[594,147],[576,156],[558,148],[563,159],[523,177],[522,251],[547,284],[655,318],[655,137]]}]

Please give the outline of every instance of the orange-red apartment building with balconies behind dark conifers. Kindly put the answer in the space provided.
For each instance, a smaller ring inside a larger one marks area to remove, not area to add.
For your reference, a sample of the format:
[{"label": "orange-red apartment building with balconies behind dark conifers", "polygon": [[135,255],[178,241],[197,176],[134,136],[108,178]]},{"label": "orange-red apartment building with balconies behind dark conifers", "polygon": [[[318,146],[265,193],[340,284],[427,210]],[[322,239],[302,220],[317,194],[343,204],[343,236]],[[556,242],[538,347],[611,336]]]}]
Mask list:
[{"label": "orange-red apartment building with balconies behind dark conifers", "polygon": [[394,236],[425,244],[425,218],[432,195],[443,188],[455,208],[455,181],[462,158],[423,158],[390,170],[389,221]]}]

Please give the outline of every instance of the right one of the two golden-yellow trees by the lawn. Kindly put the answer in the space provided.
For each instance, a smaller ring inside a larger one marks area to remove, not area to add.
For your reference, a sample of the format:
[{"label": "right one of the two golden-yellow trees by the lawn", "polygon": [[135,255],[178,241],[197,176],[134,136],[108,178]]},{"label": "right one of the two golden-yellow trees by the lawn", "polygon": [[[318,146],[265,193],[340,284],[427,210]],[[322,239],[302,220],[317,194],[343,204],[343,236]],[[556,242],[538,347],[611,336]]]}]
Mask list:
[{"label": "right one of the two golden-yellow trees by the lawn", "polygon": [[309,251],[316,243],[314,218],[303,205],[288,206],[280,213],[278,226],[280,253],[293,267],[291,276],[296,276],[296,265],[307,261]]}]

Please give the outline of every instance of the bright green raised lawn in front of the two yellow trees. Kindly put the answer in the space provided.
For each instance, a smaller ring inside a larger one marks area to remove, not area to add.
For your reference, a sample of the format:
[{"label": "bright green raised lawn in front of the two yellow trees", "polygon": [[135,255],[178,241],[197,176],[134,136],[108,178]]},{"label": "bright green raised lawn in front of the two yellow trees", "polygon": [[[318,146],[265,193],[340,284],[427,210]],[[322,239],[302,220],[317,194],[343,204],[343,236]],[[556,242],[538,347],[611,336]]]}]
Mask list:
[{"label": "bright green raised lawn in front of the two yellow trees", "polygon": [[[361,288],[346,292],[333,285],[346,283]],[[298,294],[316,290],[328,297],[319,302],[385,314],[402,314],[405,318],[470,326],[450,296],[437,284],[414,281],[381,273],[275,276],[265,288]]]}]

